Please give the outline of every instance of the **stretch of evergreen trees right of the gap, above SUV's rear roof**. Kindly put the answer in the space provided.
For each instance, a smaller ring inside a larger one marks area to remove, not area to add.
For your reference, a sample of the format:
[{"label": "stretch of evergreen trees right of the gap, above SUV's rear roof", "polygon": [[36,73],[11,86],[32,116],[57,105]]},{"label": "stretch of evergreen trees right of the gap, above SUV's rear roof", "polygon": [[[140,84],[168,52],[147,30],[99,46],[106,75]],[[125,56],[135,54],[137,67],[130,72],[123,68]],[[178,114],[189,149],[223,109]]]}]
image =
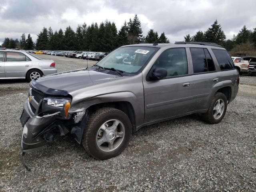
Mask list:
[{"label": "stretch of evergreen trees right of the gap, above SUV's rear roof", "polygon": [[237,35],[233,35],[232,39],[226,39],[220,24],[215,20],[208,30],[205,32],[199,30],[194,36],[187,34],[184,36],[184,41],[212,42],[222,45],[230,52],[254,51],[256,48],[256,28],[249,30],[244,25]]}]

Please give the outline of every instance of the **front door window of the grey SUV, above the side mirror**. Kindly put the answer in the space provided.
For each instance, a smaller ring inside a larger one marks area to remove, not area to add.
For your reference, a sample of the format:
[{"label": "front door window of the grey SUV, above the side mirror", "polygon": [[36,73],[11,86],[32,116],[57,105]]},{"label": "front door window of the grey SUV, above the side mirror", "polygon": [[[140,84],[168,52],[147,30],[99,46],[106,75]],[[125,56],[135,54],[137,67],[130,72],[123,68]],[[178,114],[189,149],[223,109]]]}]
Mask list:
[{"label": "front door window of the grey SUV, above the side mirror", "polygon": [[167,77],[188,74],[185,48],[173,48],[164,51],[154,63],[154,68],[165,68]]}]

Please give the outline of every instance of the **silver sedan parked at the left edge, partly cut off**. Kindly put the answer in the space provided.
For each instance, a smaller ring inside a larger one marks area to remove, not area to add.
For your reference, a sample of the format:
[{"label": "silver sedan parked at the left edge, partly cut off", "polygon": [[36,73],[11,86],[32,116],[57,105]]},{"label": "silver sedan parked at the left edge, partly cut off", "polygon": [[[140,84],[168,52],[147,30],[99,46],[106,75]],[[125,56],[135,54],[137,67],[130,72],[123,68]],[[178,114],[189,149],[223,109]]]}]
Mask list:
[{"label": "silver sedan parked at the left edge, partly cut off", "polygon": [[25,51],[0,50],[0,79],[31,81],[56,72],[53,60],[44,60]]}]

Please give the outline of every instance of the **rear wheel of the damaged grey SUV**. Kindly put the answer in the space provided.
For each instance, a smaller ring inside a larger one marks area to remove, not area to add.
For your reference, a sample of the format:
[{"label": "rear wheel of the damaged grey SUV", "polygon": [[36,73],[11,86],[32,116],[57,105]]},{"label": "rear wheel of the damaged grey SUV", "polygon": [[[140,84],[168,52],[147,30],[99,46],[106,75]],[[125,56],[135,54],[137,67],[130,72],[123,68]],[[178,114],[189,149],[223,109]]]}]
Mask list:
[{"label": "rear wheel of the damaged grey SUV", "polygon": [[[218,101],[220,101],[219,102],[220,106],[223,103],[223,107],[224,107],[223,111],[222,111],[222,107],[214,110],[215,106],[218,106],[217,104]],[[218,109],[220,109],[220,111]],[[226,110],[227,110],[226,95],[220,92],[216,92],[212,98],[208,111],[205,114],[202,114],[203,120],[210,124],[217,124],[222,121],[223,117],[225,116]]]}]

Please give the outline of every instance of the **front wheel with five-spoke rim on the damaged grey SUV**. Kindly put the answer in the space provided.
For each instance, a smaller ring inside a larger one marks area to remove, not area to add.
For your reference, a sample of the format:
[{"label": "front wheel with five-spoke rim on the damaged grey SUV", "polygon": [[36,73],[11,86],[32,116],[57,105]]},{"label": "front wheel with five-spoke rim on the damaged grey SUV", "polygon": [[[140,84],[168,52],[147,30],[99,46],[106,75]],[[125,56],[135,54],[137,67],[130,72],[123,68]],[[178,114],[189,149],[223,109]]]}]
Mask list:
[{"label": "front wheel with five-spoke rim on the damaged grey SUV", "polygon": [[[116,134],[112,132],[112,127],[115,127],[114,122],[118,122]],[[109,123],[110,125],[108,125]],[[105,130],[102,130],[102,128]],[[119,137],[121,134],[122,137]],[[122,153],[128,146],[131,135],[132,125],[124,112],[116,108],[101,108],[90,115],[84,130],[82,145],[90,156],[106,160]],[[114,144],[111,145],[109,141],[100,142],[101,139],[111,139]],[[102,144],[100,145],[100,143]],[[111,146],[113,147],[112,149]]]}]

